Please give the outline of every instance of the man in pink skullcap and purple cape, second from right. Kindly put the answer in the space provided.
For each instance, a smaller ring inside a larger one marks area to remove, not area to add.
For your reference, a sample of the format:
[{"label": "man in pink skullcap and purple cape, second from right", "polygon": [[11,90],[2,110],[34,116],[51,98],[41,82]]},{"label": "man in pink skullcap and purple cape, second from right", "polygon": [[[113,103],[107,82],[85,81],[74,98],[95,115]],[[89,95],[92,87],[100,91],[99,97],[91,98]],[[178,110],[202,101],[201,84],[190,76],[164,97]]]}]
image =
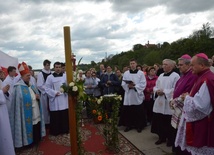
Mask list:
[{"label": "man in pink skullcap and purple cape, second from right", "polygon": [[[171,125],[173,127],[173,144],[175,142],[178,125],[183,110],[183,102],[181,101],[181,96],[182,94],[187,92],[189,93],[191,91],[197,78],[197,75],[192,73],[190,61],[191,57],[188,54],[184,54],[180,58],[178,58],[178,69],[181,73],[181,77],[175,85],[173,98],[170,101],[170,106],[173,109],[173,115],[171,119]],[[176,153],[176,155],[189,154],[186,150],[181,151],[179,147],[175,147],[174,145],[172,147],[172,150]]]}]

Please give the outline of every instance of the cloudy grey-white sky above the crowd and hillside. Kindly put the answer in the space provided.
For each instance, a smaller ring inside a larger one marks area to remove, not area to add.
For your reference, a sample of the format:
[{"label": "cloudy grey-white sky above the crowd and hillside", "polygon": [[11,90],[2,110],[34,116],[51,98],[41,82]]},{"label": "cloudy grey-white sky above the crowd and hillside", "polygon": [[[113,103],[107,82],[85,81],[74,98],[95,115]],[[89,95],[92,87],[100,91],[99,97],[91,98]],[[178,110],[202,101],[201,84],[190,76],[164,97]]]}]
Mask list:
[{"label": "cloudy grey-white sky above the crowd and hillside", "polygon": [[0,0],[0,50],[34,69],[64,62],[63,27],[82,63],[132,49],[171,43],[209,22],[213,0]]}]

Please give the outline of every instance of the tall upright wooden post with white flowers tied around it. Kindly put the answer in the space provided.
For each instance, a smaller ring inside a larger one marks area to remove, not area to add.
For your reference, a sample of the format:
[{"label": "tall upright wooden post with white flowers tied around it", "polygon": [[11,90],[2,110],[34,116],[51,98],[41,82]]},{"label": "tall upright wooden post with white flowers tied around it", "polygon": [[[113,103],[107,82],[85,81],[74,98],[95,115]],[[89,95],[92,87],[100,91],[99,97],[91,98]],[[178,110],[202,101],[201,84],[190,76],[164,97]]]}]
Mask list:
[{"label": "tall upright wooden post with white flowers tied around it", "polygon": [[[73,81],[73,67],[71,60],[71,38],[70,38],[70,27],[64,26],[64,44],[65,44],[65,68],[68,84]],[[76,130],[76,113],[75,113],[75,99],[72,96],[68,96],[69,105],[69,128],[70,128],[70,143],[71,143],[71,154],[77,155],[77,130]]]}]

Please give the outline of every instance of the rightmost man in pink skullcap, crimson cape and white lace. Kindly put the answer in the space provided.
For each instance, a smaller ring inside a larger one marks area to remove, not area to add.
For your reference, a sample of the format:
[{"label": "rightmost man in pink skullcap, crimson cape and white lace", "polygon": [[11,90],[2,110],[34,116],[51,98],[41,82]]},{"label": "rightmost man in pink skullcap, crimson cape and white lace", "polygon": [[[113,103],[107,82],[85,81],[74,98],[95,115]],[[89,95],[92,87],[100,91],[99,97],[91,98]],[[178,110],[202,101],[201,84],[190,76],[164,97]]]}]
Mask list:
[{"label": "rightmost man in pink skullcap, crimson cape and white lace", "polygon": [[183,113],[175,145],[192,155],[214,153],[214,74],[204,53],[191,59],[192,72],[198,75],[190,93],[183,95]]}]

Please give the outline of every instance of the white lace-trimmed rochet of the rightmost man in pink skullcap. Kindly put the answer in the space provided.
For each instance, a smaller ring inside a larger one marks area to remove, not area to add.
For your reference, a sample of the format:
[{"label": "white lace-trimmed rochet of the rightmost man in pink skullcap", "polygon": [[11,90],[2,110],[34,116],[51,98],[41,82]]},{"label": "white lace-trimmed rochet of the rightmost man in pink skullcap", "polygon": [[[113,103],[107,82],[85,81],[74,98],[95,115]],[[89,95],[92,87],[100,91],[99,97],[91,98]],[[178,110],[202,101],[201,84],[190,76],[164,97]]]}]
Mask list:
[{"label": "white lace-trimmed rochet of the rightmost man in pink skullcap", "polygon": [[184,100],[183,113],[178,126],[178,132],[175,139],[175,146],[180,146],[181,150],[188,150],[192,155],[213,155],[213,147],[192,147],[186,144],[186,122],[201,120],[210,115],[213,107],[206,83],[203,83],[198,93],[194,97],[189,95]]}]

